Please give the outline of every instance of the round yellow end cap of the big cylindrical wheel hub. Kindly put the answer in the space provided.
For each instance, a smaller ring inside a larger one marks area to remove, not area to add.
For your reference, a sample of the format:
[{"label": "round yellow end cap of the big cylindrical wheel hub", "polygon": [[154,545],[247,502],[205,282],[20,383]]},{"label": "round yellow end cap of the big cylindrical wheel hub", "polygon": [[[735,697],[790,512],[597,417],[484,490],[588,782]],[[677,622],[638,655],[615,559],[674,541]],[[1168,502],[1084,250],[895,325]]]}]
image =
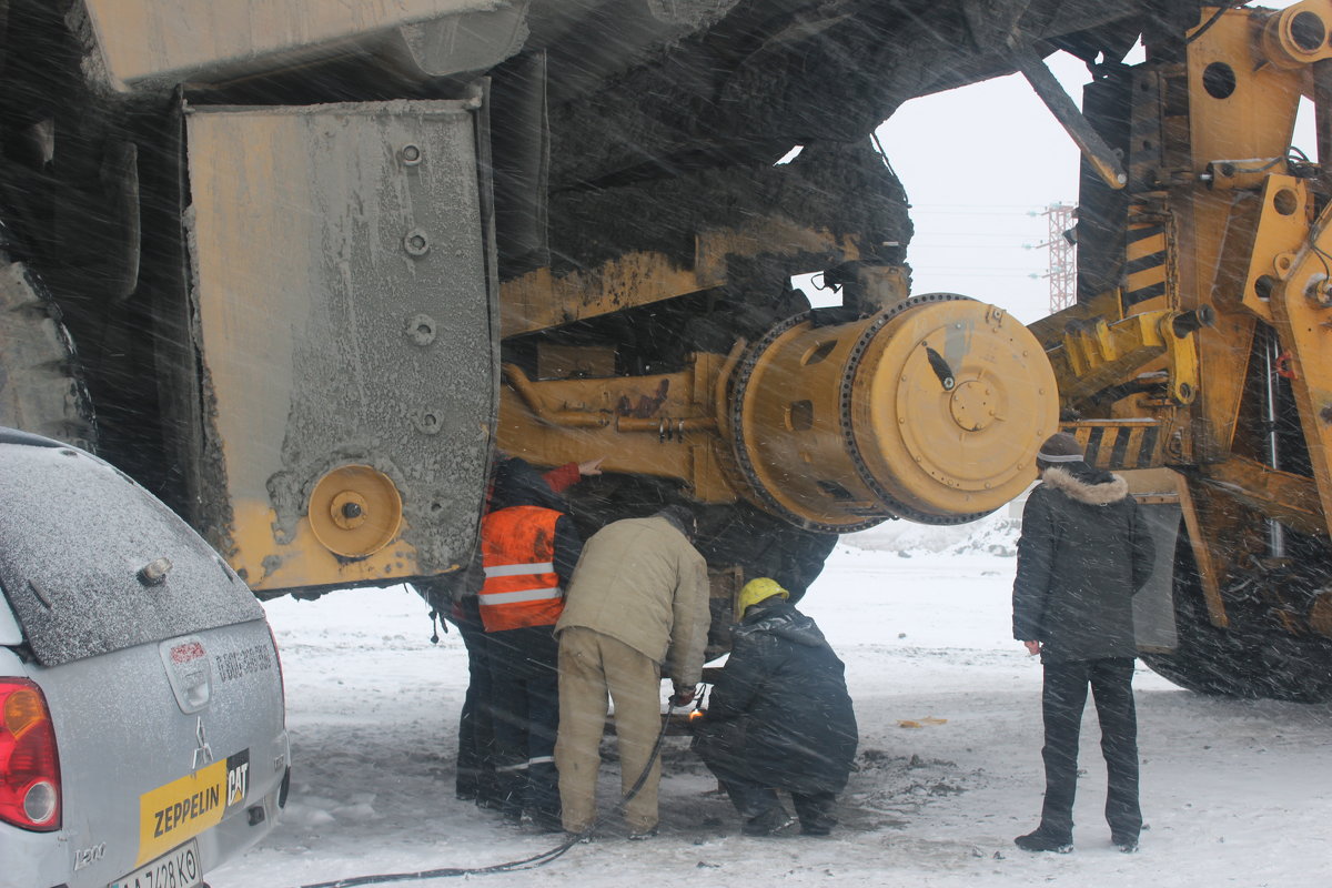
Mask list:
[{"label": "round yellow end cap of the big cylindrical wheel hub", "polygon": [[1058,389],[1027,328],[995,306],[930,294],[884,313],[858,345],[844,431],[894,510],[962,523],[1031,483],[1035,453],[1056,429]]}]

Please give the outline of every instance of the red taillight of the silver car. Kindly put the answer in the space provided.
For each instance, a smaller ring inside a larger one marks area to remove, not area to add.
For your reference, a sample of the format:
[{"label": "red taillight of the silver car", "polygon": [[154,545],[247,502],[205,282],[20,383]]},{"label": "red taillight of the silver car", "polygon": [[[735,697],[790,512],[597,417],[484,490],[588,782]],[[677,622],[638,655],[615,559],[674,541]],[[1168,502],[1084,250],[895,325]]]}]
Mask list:
[{"label": "red taillight of the silver car", "polygon": [[60,828],[60,755],[41,688],[0,678],[0,820],[24,829]]}]

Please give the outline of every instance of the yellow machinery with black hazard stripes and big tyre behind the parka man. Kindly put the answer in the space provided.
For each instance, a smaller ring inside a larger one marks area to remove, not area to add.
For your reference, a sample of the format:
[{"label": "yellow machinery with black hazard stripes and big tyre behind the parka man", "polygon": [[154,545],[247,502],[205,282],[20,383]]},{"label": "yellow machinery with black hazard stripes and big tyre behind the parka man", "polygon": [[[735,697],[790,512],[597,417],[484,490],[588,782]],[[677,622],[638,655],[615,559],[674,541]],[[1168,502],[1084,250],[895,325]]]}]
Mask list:
[{"label": "yellow machinery with black hazard stripes and big tyre behind the parka man", "polygon": [[[1070,430],[1181,519],[1175,626],[1140,634],[1147,662],[1195,690],[1328,699],[1332,4],[1203,12],[1088,87],[1126,178],[1084,168],[1079,304],[1032,332]],[[1315,158],[1292,148],[1301,99]]]}]

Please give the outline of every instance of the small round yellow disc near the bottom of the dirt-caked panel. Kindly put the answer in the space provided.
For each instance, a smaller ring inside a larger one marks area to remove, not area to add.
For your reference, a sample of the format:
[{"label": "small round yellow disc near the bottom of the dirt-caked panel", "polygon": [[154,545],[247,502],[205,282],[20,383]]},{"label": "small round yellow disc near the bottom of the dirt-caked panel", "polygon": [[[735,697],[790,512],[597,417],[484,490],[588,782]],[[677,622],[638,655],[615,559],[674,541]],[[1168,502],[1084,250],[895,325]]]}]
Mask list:
[{"label": "small round yellow disc near the bottom of the dirt-caked panel", "polygon": [[384,549],[402,526],[402,495],[378,469],[338,466],[314,485],[310,529],[330,553],[365,558]]}]

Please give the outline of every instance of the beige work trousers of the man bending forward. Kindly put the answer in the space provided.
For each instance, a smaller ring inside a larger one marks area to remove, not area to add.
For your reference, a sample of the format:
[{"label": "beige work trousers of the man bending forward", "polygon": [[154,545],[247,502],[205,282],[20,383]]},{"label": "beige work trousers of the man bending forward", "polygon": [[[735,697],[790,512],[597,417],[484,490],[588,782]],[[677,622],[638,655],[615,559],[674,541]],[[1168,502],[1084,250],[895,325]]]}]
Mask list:
[{"label": "beige work trousers of the man bending forward", "polygon": [[[606,727],[606,695],[615,703],[619,785],[627,793],[651,758],[661,732],[661,666],[623,642],[590,628],[559,632],[559,734],[555,767],[563,827],[582,832],[597,820],[597,770]],[[625,808],[630,832],[657,827],[661,759]]]}]

